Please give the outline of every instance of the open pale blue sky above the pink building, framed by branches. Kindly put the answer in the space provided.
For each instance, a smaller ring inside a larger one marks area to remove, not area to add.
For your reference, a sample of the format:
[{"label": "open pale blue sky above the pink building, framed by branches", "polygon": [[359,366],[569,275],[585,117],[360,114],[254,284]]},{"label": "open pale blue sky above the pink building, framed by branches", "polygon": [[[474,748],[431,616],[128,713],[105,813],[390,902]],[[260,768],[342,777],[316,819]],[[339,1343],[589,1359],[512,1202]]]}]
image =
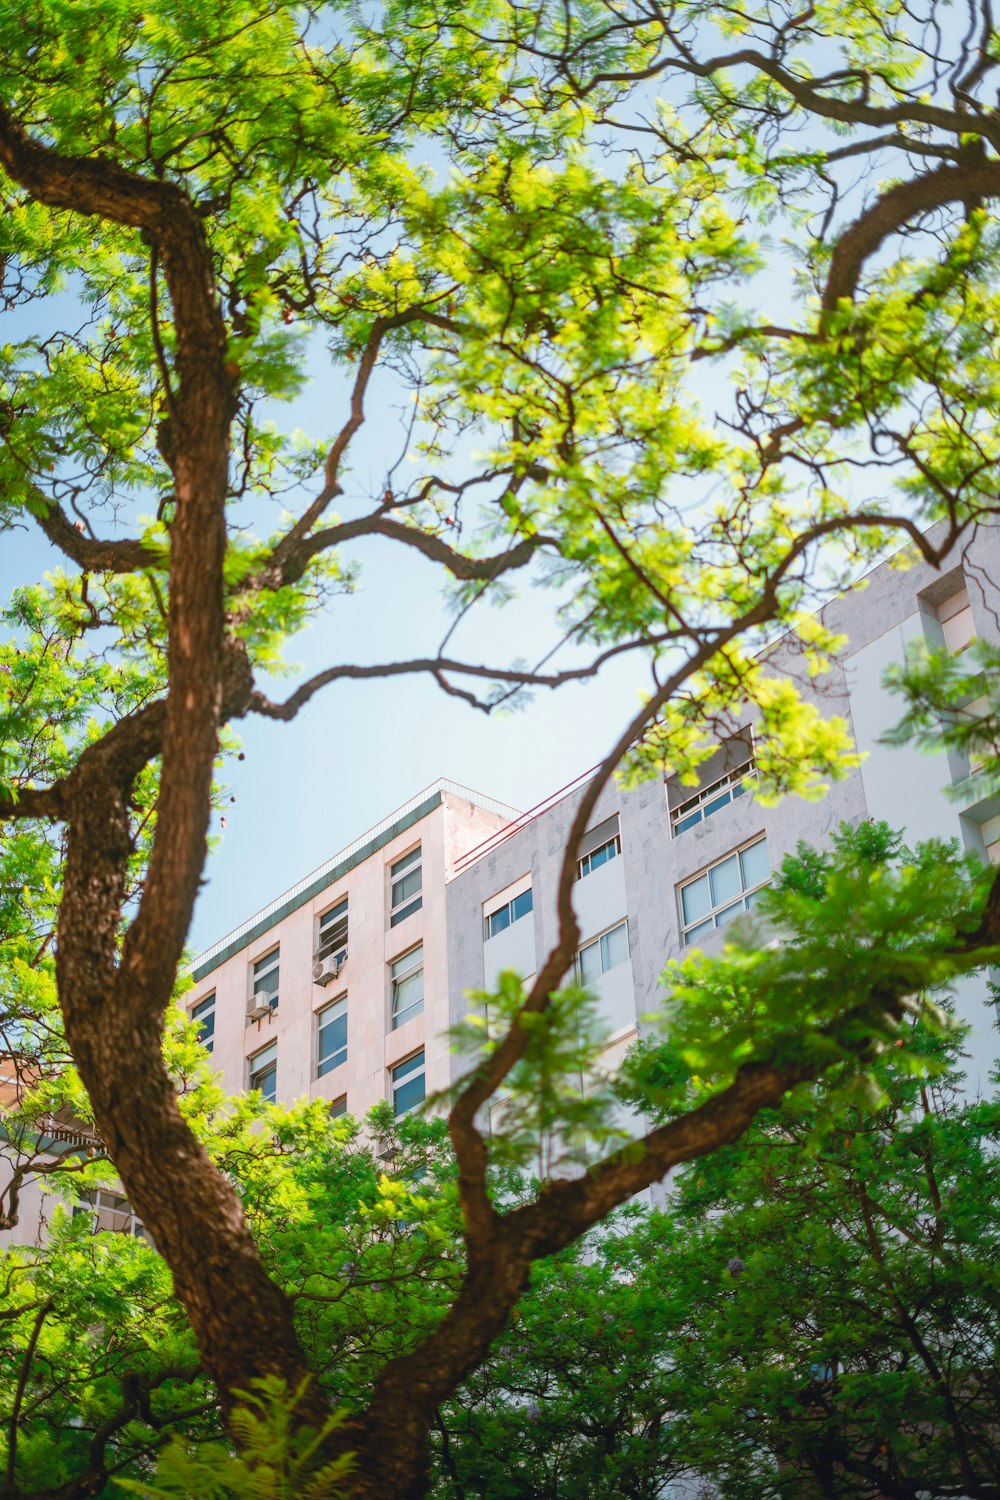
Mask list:
[{"label": "open pale blue sky above the pink building, framed by branches", "polygon": [[[18,333],[25,332],[22,320],[24,314],[16,318]],[[7,320],[9,336],[13,321]],[[346,414],[346,382],[319,358],[310,360],[310,369],[309,387],[280,414],[282,424],[331,430]],[[385,468],[403,441],[391,392],[376,394],[369,412],[340,501],[345,514],[381,495]],[[120,534],[100,516],[93,524],[99,532]],[[270,696],[286,696],[303,675],[337,662],[393,662],[436,650],[451,620],[441,572],[381,538],[349,555],[363,564],[358,591],[334,598],[289,644],[286,657],[300,670],[264,684]],[[3,597],[18,582],[63,562],[33,525],[3,534]],[[493,664],[534,658],[540,642],[555,639],[553,606],[552,592],[538,590],[502,609],[480,608],[448,650]],[[448,698],[430,678],[340,682],[324,688],[291,723],[243,720],[237,732],[244,760],[226,764],[235,801],[225,808],[225,831],[216,822],[217,843],[190,933],[193,950],[226,933],[439,776],[517,807],[532,806],[601,758],[637,708],[645,681],[636,658],[597,682],[540,692],[522,710],[490,717]]]}]

